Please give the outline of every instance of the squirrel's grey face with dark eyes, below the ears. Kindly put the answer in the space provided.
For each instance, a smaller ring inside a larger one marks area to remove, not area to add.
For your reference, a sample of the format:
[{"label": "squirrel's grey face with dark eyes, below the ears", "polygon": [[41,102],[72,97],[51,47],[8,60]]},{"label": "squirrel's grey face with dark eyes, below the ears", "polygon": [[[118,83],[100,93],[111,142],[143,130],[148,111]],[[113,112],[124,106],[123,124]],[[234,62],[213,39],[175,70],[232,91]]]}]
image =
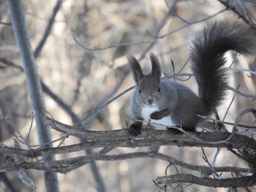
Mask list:
[{"label": "squirrel's grey face with dark eyes, below the ears", "polygon": [[137,103],[143,107],[158,107],[161,98],[161,83],[151,75],[145,75],[135,90]]}]

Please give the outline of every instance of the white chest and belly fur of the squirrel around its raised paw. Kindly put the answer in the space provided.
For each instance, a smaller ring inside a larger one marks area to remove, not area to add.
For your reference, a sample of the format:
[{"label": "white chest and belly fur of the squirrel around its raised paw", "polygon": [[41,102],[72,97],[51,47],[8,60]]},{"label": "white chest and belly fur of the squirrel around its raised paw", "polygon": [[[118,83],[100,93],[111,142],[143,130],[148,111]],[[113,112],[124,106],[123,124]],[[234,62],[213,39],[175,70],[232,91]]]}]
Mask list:
[{"label": "white chest and belly fur of the squirrel around its raised paw", "polygon": [[[144,121],[148,121],[148,119],[150,119],[150,115],[155,111],[159,111],[159,109],[157,107],[143,107],[141,111],[141,115]],[[161,123],[168,126],[174,126],[171,116],[165,116],[159,120],[151,119],[151,122]],[[154,125],[154,126],[156,127],[156,129],[162,129],[162,130],[166,129],[165,126],[161,126],[161,125]]]}]

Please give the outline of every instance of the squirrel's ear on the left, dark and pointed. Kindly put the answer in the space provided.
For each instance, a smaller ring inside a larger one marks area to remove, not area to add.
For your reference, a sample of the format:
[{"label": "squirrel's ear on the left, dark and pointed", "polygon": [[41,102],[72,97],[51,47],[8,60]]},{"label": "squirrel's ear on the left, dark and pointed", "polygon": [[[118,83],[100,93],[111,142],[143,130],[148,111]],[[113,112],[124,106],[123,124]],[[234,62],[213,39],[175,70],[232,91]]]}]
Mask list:
[{"label": "squirrel's ear on the left, dark and pointed", "polygon": [[134,79],[136,85],[138,86],[139,83],[140,83],[140,80],[144,76],[143,72],[142,72],[142,69],[140,67],[140,63],[132,55],[127,55],[127,59],[128,59],[129,66],[132,70],[133,79]]}]

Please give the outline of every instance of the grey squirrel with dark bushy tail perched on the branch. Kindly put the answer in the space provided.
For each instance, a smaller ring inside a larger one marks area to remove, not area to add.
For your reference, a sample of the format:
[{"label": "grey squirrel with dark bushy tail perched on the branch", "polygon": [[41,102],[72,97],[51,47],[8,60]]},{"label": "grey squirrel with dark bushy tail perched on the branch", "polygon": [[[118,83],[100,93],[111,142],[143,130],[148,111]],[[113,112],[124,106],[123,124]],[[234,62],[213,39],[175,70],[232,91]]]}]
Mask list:
[{"label": "grey squirrel with dark bushy tail perched on the branch", "polygon": [[[154,54],[150,54],[151,74],[147,75],[143,74],[137,59],[127,56],[136,84],[131,99],[132,117],[195,131],[195,127],[207,121],[197,115],[215,113],[225,97],[228,84],[225,53],[233,50],[251,54],[254,39],[243,25],[232,21],[215,21],[196,35],[191,42],[190,59],[198,96],[179,83],[161,81],[161,66]],[[130,125],[134,136],[141,134],[141,129],[142,122],[134,120]]]}]

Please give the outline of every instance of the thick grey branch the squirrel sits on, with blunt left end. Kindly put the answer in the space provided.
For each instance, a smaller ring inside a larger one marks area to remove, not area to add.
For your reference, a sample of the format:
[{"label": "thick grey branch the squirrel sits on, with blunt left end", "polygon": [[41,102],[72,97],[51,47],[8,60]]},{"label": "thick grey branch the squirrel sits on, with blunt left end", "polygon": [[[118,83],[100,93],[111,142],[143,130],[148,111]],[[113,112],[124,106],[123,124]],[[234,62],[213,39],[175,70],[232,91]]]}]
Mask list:
[{"label": "thick grey branch the squirrel sits on, with blunt left end", "polygon": [[[69,126],[54,119],[41,115],[41,118],[45,124],[50,128],[68,134],[78,138],[88,140],[127,140],[133,139],[129,134],[128,129],[114,130],[114,131],[86,131],[78,129],[73,126]],[[154,130],[154,129],[142,129],[141,135],[135,139],[133,147],[138,146],[141,139],[149,140],[150,143],[158,143],[161,145],[177,145],[177,146],[188,146],[188,147],[225,147],[239,150],[248,150],[251,154],[256,151],[256,141],[245,135],[234,134],[228,141],[224,141],[230,136],[230,133],[223,132],[187,132],[184,134],[173,134],[167,130]],[[212,142],[223,141],[213,144]],[[117,147],[117,146],[115,146]],[[124,146],[122,146],[124,147]],[[127,146],[127,147],[130,147]]]}]

